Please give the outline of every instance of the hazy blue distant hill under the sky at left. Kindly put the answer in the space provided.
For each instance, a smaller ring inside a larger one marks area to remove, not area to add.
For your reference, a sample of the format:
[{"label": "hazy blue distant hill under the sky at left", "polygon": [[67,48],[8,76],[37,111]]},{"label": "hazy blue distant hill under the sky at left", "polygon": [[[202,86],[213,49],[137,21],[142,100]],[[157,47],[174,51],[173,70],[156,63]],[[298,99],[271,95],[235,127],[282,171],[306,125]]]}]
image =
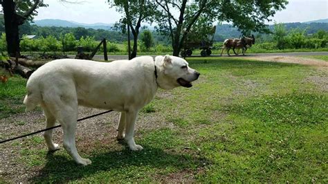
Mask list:
[{"label": "hazy blue distant hill under the sky at left", "polygon": [[36,20],[31,24],[35,24],[40,27],[68,27],[68,28],[91,28],[91,29],[104,29],[104,30],[111,30],[113,24],[104,24],[104,23],[95,23],[95,24],[84,24],[75,21],[65,21],[61,19],[42,19]]}]

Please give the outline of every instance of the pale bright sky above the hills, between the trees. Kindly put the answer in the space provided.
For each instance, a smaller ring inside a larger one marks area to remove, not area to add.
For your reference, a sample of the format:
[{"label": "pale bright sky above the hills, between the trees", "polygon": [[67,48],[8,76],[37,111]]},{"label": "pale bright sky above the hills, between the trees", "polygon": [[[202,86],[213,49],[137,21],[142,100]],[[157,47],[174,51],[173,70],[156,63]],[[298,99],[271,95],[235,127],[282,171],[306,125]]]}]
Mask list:
[{"label": "pale bright sky above the hills, between the trees", "polygon": [[[107,0],[67,0],[82,3],[64,3],[60,0],[44,0],[47,8],[39,8],[35,20],[63,19],[85,24],[115,23],[121,17],[115,8],[110,8]],[[303,22],[328,19],[328,0],[291,0],[286,9],[277,12],[269,24]]]}]

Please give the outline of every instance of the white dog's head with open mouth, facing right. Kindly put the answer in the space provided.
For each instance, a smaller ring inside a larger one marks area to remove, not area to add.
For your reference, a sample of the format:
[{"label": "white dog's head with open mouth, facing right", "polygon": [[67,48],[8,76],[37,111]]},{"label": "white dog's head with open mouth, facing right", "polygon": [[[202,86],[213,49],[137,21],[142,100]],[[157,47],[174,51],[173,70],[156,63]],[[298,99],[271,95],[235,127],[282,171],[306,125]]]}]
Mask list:
[{"label": "white dog's head with open mouth, facing right", "polygon": [[200,75],[181,57],[160,55],[155,58],[155,62],[160,68],[157,82],[162,89],[173,89],[179,86],[190,88],[191,82],[197,80]]}]

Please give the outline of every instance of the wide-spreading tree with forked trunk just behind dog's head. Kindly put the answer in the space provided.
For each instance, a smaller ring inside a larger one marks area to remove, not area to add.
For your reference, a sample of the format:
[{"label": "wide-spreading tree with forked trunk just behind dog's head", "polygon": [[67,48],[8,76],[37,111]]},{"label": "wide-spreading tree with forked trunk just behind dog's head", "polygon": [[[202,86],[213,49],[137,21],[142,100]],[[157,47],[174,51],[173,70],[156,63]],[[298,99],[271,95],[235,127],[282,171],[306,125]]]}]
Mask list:
[{"label": "wide-spreading tree with forked trunk just behind dog's head", "polygon": [[[270,21],[268,17],[282,10],[288,3],[286,0],[273,1],[230,1],[230,0],[199,0],[199,1],[158,1],[161,14],[157,18],[158,30],[162,34],[170,35],[172,39],[173,55],[179,55],[190,32],[192,25],[202,15],[207,22],[214,19],[218,21],[233,22],[233,25],[249,33],[250,30],[268,32],[264,21]],[[175,16],[173,12],[179,12]]]}]

